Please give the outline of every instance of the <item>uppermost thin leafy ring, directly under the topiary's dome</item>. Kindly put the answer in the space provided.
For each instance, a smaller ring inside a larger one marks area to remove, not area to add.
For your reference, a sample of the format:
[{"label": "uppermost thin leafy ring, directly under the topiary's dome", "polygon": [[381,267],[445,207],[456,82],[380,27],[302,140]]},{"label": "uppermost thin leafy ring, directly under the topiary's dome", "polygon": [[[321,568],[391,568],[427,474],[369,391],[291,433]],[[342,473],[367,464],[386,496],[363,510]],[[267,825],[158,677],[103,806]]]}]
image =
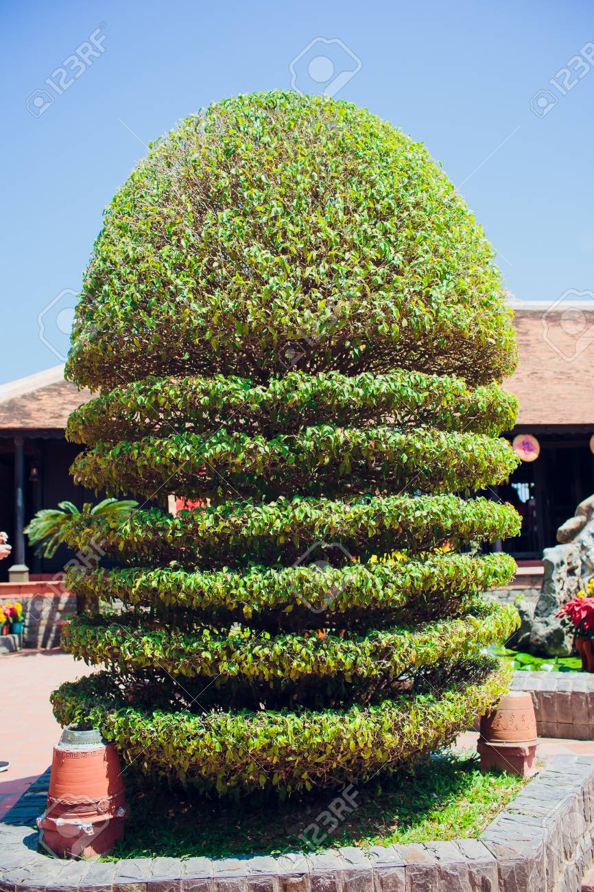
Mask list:
[{"label": "uppermost thin leafy ring, directly under the topiary's dome", "polygon": [[381,419],[400,430],[433,425],[497,435],[514,426],[516,411],[516,397],[497,384],[473,390],[455,376],[405,370],[353,377],[290,371],[266,384],[222,375],[148,377],[83,403],[70,415],[66,433],[92,445],[175,431],[210,434],[221,426],[252,434],[298,430],[332,418],[343,427],[377,425]]}]

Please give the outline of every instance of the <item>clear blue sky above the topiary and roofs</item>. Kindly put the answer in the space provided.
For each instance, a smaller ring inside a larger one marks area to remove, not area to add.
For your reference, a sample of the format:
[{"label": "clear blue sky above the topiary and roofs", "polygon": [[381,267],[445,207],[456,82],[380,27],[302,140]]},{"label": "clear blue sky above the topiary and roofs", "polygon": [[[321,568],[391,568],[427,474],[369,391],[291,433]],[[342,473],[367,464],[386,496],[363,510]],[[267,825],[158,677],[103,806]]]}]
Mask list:
[{"label": "clear blue sky above the topiary and roofs", "polygon": [[[60,361],[37,317],[61,354],[103,207],[143,144],[210,100],[290,87],[296,58],[303,92],[340,86],[335,78],[360,62],[336,95],[425,142],[517,297],[594,288],[594,62],[579,58],[594,43],[587,0],[3,0],[0,24],[0,383]],[[298,58],[316,37],[347,49],[318,43]],[[594,60],[594,46],[585,53]],[[334,74],[320,84],[310,72],[327,77],[325,58]],[[540,89],[557,98],[544,116],[530,105]]]}]

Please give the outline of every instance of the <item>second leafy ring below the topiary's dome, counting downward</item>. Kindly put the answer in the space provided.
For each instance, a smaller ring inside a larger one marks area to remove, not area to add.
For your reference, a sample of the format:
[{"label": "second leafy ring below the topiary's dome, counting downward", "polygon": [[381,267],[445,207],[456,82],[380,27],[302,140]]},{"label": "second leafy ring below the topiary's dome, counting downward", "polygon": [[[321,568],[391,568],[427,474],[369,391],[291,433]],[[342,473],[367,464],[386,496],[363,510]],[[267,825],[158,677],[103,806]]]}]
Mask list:
[{"label": "second leafy ring below the topiary's dome, counting downward", "polygon": [[369,491],[483,489],[518,463],[506,440],[415,427],[301,427],[271,439],[220,429],[208,436],[170,434],[98,442],[72,465],[77,483],[147,499],[165,483],[186,498],[220,500],[260,492],[351,495]]}]

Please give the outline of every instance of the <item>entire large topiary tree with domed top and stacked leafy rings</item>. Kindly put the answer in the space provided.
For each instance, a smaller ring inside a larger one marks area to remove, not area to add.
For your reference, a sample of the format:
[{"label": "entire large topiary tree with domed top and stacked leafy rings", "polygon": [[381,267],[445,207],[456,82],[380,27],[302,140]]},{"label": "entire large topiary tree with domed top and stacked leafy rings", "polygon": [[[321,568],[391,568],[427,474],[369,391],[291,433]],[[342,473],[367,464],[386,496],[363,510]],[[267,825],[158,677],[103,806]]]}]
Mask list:
[{"label": "entire large topiary tree with domed top and stacked leafy rings", "polygon": [[[422,145],[350,103],[212,104],[106,211],[67,374],[75,478],[161,500],[84,516],[121,601],[62,641],[108,671],[54,692],[153,776],[219,793],[369,779],[507,690],[484,646],[518,532],[469,498],[516,466],[516,362],[490,245]],[[202,500],[171,516],[167,494]],[[465,550],[466,549],[466,550]]]}]

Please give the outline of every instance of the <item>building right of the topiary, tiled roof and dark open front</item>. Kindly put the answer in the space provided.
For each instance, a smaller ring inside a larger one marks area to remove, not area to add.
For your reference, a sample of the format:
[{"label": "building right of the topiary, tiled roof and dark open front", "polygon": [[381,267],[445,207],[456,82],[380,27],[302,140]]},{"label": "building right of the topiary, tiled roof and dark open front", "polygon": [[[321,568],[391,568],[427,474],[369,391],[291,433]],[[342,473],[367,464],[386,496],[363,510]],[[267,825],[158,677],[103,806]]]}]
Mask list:
[{"label": "building right of the topiary, tiled roof and dark open front", "polygon": [[524,460],[494,491],[522,515],[521,535],[503,547],[529,560],[594,492],[594,300],[513,306],[520,361],[506,387],[520,411],[506,436]]}]

